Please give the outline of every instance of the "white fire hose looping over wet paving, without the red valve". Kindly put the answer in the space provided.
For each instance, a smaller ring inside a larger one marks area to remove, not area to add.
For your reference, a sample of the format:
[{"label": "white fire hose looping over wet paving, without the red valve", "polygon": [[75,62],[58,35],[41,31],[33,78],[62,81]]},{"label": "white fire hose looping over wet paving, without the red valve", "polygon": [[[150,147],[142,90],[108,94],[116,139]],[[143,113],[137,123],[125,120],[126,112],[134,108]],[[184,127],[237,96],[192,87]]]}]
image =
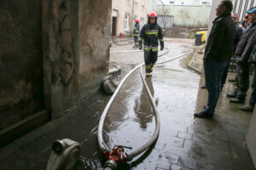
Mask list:
[{"label": "white fire hose looping over wet paving, without the red valve", "polygon": [[[167,49],[169,48],[172,48],[172,47],[168,47]],[[176,49],[181,49],[181,48],[176,48]],[[186,48],[182,48],[182,49],[186,49]],[[185,54],[181,54],[181,55],[178,55],[177,57],[175,58],[172,58],[172,59],[167,59],[166,61],[162,61],[162,62],[157,62],[156,65],[160,65],[160,64],[164,64],[168,61],[171,61],[171,60],[174,60],[174,59],[178,59],[180,57],[183,57],[184,55],[187,55],[187,54],[191,54],[193,53],[193,50],[191,49],[187,49],[189,50],[188,53],[185,53]],[[160,54],[158,57],[162,56],[162,55],[165,55],[169,53],[169,50],[164,53],[164,54]],[[143,144],[143,146],[141,146],[140,148],[138,148],[137,150],[134,150],[134,151],[131,151],[130,153],[126,153],[127,156],[129,157],[129,160],[131,161],[135,156],[138,156],[139,154],[143,153],[144,150],[147,150],[149,148],[149,146],[151,144],[154,144],[154,142],[156,141],[156,139],[158,138],[159,136],[159,133],[160,133],[160,116],[159,116],[159,113],[157,111],[157,108],[156,108],[156,105],[154,103],[154,99],[153,99],[153,96],[152,94],[150,93],[150,90],[148,88],[148,84],[147,82],[145,81],[145,79],[143,78],[143,65],[144,63],[140,64],[140,65],[137,65],[134,69],[132,69],[125,77],[124,79],[119,83],[119,87],[115,90],[113,96],[111,97],[111,99],[109,99],[108,101],[108,104],[106,105],[104,111],[102,112],[102,116],[101,116],[101,119],[100,119],[100,122],[99,122],[99,125],[98,125],[98,144],[99,144],[99,147],[100,149],[103,151],[103,150],[108,150],[109,149],[107,148],[107,145],[104,143],[104,140],[103,140],[103,136],[102,136],[102,128],[103,128],[103,123],[104,123],[104,120],[105,120],[105,117],[108,113],[108,110],[110,108],[110,106],[112,105],[113,103],[113,99],[115,99],[116,95],[119,93],[119,89],[123,86],[124,82],[126,81],[126,79],[131,75],[131,73],[133,73],[134,71],[137,70],[137,68],[141,67],[141,71],[140,71],[140,76],[143,80],[143,84],[147,90],[147,93],[148,93],[148,96],[149,96],[149,99],[150,99],[150,102],[151,104],[153,105],[154,107],[154,114],[155,114],[155,130],[154,130],[154,134],[152,135],[151,139],[148,140],[148,142],[146,142],[145,144]],[[105,170],[111,170],[111,168],[109,167],[106,167]]]}]

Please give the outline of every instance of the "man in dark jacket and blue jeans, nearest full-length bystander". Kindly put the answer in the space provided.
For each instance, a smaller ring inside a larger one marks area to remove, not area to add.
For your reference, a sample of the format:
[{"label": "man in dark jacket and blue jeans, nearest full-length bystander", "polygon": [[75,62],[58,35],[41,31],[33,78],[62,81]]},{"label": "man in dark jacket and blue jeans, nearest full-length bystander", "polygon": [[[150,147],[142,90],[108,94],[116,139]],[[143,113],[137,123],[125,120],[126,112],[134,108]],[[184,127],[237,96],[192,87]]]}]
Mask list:
[{"label": "man in dark jacket and blue jeans, nearest full-length bystander", "polygon": [[216,8],[217,18],[207,39],[203,58],[208,102],[204,111],[195,113],[197,117],[212,117],[221,91],[221,79],[232,54],[236,37],[236,24],[231,18],[233,4],[224,0]]}]

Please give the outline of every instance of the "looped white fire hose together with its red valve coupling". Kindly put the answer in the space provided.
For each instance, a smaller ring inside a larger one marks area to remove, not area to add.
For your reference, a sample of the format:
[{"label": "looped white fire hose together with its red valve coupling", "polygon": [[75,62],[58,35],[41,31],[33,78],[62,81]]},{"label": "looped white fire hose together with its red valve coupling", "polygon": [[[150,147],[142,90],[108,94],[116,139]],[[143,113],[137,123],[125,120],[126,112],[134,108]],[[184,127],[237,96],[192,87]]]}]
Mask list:
[{"label": "looped white fire hose together with its red valve coupling", "polygon": [[[160,56],[168,54],[170,51],[169,49],[173,48],[173,47],[168,47],[168,51],[164,54],[160,54]],[[180,49],[180,48],[177,48]],[[162,62],[157,62],[156,65],[160,65],[160,64],[164,64],[168,61],[174,60],[174,59],[178,59],[183,57],[184,55],[187,54],[191,54],[193,53],[193,50],[188,49],[188,48],[183,48],[186,50],[189,50],[188,53],[185,54],[181,54],[178,55],[175,58],[172,59],[167,59],[166,61],[162,61]],[[139,50],[142,51],[142,50]],[[134,52],[134,50],[131,51],[125,51],[125,52]],[[112,52],[114,53],[114,52]],[[134,69],[132,69],[125,77],[124,79],[119,83],[119,87],[116,89],[116,91],[114,92],[113,96],[111,97],[111,99],[109,99],[108,104],[106,105],[104,111],[102,112],[102,116],[98,125],[98,144],[100,149],[102,150],[103,155],[105,156],[105,159],[107,159],[107,161],[104,164],[104,170],[114,170],[118,167],[118,163],[124,163],[126,161],[131,161],[135,156],[138,156],[139,154],[143,153],[144,150],[147,150],[149,148],[150,145],[154,144],[154,142],[158,139],[159,133],[160,133],[160,116],[159,113],[157,111],[157,107],[154,103],[154,99],[152,94],[150,93],[150,90],[148,88],[148,84],[145,81],[144,77],[143,77],[143,63],[140,65],[137,65]],[[131,152],[125,152],[124,148],[125,146],[114,146],[112,150],[108,149],[107,145],[104,143],[103,137],[102,137],[102,128],[103,128],[103,124],[105,121],[105,118],[107,116],[108,110],[110,108],[110,106],[113,103],[113,99],[115,99],[115,97],[117,96],[117,94],[119,93],[119,89],[123,86],[123,84],[125,83],[126,79],[131,75],[131,73],[133,73],[134,71],[136,71],[138,68],[140,67],[141,71],[140,71],[140,76],[143,80],[143,85],[145,86],[146,90],[147,90],[147,94],[149,96],[150,102],[154,107],[154,115],[155,115],[155,130],[154,130],[154,134],[152,135],[151,139],[148,140],[148,142],[146,142],[145,144],[143,144],[143,146],[141,146],[140,148],[138,148],[137,150],[131,151]]]}]

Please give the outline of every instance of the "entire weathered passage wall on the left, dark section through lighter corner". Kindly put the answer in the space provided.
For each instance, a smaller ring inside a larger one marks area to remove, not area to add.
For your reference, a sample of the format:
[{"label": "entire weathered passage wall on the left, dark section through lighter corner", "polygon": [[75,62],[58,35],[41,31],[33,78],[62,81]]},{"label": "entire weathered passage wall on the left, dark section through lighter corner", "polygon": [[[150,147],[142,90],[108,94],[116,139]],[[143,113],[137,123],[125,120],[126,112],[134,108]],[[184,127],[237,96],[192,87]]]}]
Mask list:
[{"label": "entire weathered passage wall on the left, dark section through lighter corner", "polygon": [[111,0],[0,1],[0,130],[53,118],[108,74]]}]

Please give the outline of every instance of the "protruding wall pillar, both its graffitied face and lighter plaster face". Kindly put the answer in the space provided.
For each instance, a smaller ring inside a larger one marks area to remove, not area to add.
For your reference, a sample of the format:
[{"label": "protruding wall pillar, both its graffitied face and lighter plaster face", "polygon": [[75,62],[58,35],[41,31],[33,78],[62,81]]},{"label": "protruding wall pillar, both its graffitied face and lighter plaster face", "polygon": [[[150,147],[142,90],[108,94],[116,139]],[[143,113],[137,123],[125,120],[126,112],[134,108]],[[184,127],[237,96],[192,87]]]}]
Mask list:
[{"label": "protruding wall pillar, both its graffitied face and lighter plaster face", "polygon": [[108,74],[111,0],[42,3],[45,104],[55,118]]}]

